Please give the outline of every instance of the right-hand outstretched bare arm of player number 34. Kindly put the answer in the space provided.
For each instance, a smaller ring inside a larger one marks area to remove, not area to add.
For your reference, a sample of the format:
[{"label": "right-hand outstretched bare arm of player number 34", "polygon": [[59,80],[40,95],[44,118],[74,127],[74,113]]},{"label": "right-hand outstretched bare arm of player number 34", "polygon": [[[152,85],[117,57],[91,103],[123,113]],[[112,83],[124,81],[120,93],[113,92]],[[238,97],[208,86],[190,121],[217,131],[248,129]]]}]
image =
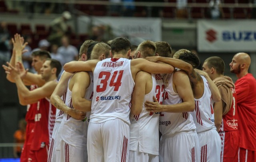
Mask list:
[{"label": "right-hand outstretched bare arm of player number 34", "polygon": [[132,78],[135,79],[138,71],[146,71],[153,74],[166,74],[172,73],[174,67],[165,63],[154,63],[146,59],[133,59],[131,60]]}]

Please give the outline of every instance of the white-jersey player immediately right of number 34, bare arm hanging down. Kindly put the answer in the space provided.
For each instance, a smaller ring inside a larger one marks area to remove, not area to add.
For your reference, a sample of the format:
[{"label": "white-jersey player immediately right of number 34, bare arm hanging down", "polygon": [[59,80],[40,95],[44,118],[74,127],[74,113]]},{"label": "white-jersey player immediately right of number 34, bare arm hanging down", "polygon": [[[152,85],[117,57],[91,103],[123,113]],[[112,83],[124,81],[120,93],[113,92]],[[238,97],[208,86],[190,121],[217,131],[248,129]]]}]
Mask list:
[{"label": "white-jersey player immediately right of number 34, bare arm hanging down", "polygon": [[[154,56],[155,51],[154,42],[144,41],[138,46],[135,58]],[[160,98],[162,98],[163,89],[164,81],[160,74],[150,74],[144,71],[137,73],[132,94],[131,110],[133,111],[130,115],[129,161],[131,162],[159,162],[159,113],[146,111],[144,102],[154,101],[153,96],[162,102]]]}]

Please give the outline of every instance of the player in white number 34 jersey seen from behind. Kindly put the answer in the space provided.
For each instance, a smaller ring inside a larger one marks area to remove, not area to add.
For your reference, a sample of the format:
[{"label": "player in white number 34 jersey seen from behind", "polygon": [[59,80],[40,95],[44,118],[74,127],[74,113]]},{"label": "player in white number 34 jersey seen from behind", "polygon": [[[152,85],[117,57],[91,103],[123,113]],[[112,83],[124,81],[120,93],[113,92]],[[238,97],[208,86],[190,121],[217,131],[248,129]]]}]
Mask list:
[{"label": "player in white number 34 jersey seen from behind", "polygon": [[[111,59],[70,62],[68,72],[94,72],[94,97],[88,126],[88,161],[128,161],[129,103],[134,79],[139,71],[171,73],[173,67],[150,63],[144,59],[128,60],[130,41],[115,38],[111,42]],[[149,64],[150,63],[150,64]],[[117,140],[118,139],[118,140]]]}]

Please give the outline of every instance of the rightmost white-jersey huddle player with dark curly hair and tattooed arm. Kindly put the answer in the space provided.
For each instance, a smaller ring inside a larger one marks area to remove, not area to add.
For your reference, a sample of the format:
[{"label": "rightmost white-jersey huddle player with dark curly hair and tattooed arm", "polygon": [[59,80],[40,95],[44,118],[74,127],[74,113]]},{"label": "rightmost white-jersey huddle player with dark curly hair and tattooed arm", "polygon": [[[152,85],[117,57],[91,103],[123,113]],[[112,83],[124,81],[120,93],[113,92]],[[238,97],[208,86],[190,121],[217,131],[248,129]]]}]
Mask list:
[{"label": "rightmost white-jersey huddle player with dark curly hair and tattooed arm", "polygon": [[[196,132],[198,133],[198,138],[200,140],[201,161],[220,161],[221,142],[216,127],[214,126],[214,111],[211,101],[212,99],[218,101],[220,99],[220,93],[211,80],[208,82],[204,77],[194,71],[194,68],[198,67],[200,63],[199,58],[194,53],[188,50],[182,50],[178,57],[179,59],[158,58],[155,61],[169,63],[174,67],[183,69],[188,74],[195,100],[195,111],[192,115],[194,122],[196,123]],[[214,95],[212,95],[208,83],[211,84],[210,87],[212,87]]]}]

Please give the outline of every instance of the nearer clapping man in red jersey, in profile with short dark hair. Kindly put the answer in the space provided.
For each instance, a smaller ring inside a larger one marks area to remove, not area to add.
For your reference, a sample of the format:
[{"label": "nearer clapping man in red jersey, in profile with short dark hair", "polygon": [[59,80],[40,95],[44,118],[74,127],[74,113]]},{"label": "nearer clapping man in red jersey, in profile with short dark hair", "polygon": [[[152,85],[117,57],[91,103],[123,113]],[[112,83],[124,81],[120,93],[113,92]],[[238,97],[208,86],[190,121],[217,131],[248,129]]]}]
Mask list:
[{"label": "nearer clapping man in red jersey, in profile with short dark hair", "polygon": [[26,103],[37,102],[36,114],[34,117],[35,125],[32,132],[34,132],[34,139],[30,146],[30,153],[28,161],[38,162],[47,161],[49,141],[52,134],[52,129],[55,121],[56,108],[50,104],[50,96],[57,85],[57,77],[61,71],[61,64],[55,59],[46,59],[41,68],[42,79],[45,84],[32,91],[29,91],[22,82],[19,66],[9,65],[11,70],[6,71],[14,79],[20,97]]}]

